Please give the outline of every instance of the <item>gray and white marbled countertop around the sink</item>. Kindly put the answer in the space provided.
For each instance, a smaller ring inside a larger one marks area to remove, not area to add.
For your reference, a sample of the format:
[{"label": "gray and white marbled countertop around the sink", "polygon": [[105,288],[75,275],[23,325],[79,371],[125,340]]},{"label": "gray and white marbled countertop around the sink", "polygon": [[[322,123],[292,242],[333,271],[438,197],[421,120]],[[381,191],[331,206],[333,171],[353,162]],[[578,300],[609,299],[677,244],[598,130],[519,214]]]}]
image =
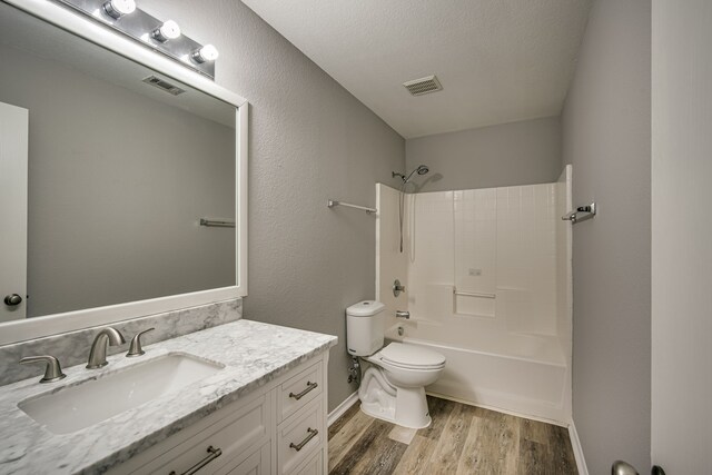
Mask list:
[{"label": "gray and white marbled countertop around the sink", "polygon": [[[39,378],[31,378],[2,386],[0,473],[102,472],[335,344],[336,337],[330,335],[241,319],[146,346],[146,355],[140,358],[126,358],[123,354],[109,356],[109,365],[101,369],[89,370],[85,365],[63,368],[67,377],[59,383],[40,385]],[[52,434],[18,408],[18,403],[29,397],[102,378],[169,353],[195,355],[225,368],[179,392],[71,434]]]}]

